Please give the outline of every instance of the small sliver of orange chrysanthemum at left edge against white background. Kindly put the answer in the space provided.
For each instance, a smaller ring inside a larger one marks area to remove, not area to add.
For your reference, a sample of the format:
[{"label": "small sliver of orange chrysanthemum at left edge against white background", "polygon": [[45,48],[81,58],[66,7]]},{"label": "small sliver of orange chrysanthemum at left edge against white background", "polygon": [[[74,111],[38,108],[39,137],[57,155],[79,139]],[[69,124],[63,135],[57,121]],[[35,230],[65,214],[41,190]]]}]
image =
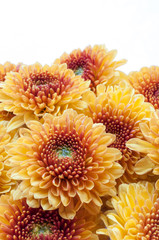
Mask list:
[{"label": "small sliver of orange chrysanthemum at left edge against white background", "polygon": [[6,62],[4,65],[0,64],[0,82],[4,82],[5,76],[8,72],[18,72],[21,63],[18,65],[12,64],[10,62]]}]

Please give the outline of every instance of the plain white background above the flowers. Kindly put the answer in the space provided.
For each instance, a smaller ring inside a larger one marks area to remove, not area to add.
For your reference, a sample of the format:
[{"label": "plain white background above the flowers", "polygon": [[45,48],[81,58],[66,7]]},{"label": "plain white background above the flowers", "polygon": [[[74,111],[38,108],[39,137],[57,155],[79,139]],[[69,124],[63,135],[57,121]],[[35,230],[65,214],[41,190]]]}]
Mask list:
[{"label": "plain white background above the flowers", "polygon": [[159,65],[158,0],[0,0],[0,63],[51,64],[105,44],[128,73]]}]

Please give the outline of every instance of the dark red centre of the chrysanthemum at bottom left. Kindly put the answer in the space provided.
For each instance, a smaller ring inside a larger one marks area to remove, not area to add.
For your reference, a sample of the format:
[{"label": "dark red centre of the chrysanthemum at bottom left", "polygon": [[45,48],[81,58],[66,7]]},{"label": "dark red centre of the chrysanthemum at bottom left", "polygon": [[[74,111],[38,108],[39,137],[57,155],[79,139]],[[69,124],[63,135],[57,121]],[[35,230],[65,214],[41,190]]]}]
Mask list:
[{"label": "dark red centre of the chrysanthemum at bottom left", "polygon": [[[18,206],[10,216],[10,226],[4,225],[2,231],[8,240],[77,240],[82,229],[76,226],[76,220],[65,220],[58,210],[44,211],[41,208],[30,208],[23,202],[23,208]],[[8,217],[7,217],[8,218]]]}]

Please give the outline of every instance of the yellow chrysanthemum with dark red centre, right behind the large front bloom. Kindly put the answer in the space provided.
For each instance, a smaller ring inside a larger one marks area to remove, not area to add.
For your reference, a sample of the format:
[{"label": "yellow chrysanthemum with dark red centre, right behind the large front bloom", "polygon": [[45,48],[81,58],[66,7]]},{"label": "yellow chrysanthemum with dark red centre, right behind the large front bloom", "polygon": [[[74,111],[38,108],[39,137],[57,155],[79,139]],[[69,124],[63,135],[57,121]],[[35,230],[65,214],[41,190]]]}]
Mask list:
[{"label": "yellow chrysanthemum with dark red centre, right behind the large front bloom", "polygon": [[153,106],[144,102],[143,95],[134,94],[134,89],[126,82],[108,88],[100,84],[97,86],[97,96],[89,92],[84,94],[83,99],[88,104],[85,114],[91,117],[94,123],[103,123],[106,132],[116,135],[111,146],[118,148],[123,154],[120,160],[125,170],[122,180],[134,181],[134,165],[141,156],[128,149],[126,142],[133,137],[142,138],[139,123],[150,119]]}]

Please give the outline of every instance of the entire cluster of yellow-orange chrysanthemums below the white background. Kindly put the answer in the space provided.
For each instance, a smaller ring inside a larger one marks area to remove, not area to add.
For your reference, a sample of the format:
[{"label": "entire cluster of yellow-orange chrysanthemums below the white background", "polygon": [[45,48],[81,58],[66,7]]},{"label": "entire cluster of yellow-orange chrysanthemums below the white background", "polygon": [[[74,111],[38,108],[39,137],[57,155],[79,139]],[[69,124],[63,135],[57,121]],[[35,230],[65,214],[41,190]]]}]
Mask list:
[{"label": "entire cluster of yellow-orange chrysanthemums below the white background", "polygon": [[0,240],[159,240],[159,67],[115,56],[0,65]]}]

